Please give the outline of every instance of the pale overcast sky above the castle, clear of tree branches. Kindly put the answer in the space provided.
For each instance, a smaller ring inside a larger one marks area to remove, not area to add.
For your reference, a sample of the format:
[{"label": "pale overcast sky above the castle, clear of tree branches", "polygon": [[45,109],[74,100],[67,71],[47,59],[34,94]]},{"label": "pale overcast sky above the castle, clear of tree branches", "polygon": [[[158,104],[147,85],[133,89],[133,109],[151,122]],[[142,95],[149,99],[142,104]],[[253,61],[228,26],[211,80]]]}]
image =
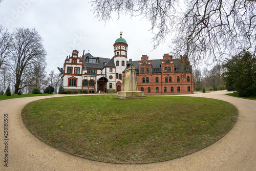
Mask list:
[{"label": "pale overcast sky above the castle, clear of tree branches", "polygon": [[[153,50],[151,25],[139,17],[121,16],[107,23],[95,18],[88,1],[4,0],[0,4],[0,24],[12,32],[14,28],[35,28],[44,39],[47,51],[47,72],[63,67],[72,50],[90,50],[93,56],[112,58],[113,44],[122,37],[128,44],[128,59],[139,60],[142,55],[160,59],[169,53],[166,44]],[[153,51],[152,51],[153,50]]]}]

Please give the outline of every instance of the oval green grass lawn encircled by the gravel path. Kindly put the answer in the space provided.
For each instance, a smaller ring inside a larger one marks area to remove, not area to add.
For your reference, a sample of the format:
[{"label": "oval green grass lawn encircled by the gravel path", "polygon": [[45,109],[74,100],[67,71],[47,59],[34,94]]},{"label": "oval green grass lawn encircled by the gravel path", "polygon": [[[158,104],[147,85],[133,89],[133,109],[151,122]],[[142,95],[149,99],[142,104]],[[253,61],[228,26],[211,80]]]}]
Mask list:
[{"label": "oval green grass lawn encircled by the gravel path", "polygon": [[116,95],[42,99],[22,112],[42,141],[84,158],[148,163],[202,149],[230,131],[238,118],[230,103],[182,96],[121,100]]}]

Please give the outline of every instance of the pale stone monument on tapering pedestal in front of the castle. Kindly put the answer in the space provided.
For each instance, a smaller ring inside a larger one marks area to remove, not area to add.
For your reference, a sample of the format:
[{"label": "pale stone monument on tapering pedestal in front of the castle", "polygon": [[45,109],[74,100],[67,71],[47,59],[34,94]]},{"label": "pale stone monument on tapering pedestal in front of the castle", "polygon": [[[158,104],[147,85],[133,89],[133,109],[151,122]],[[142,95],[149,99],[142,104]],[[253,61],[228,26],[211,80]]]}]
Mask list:
[{"label": "pale stone monument on tapering pedestal in front of the castle", "polygon": [[125,76],[124,76],[123,91],[117,92],[116,98],[119,98],[119,99],[146,98],[144,95],[144,92],[138,91],[135,71],[136,69],[133,66],[132,62],[127,63],[127,69],[125,70]]}]

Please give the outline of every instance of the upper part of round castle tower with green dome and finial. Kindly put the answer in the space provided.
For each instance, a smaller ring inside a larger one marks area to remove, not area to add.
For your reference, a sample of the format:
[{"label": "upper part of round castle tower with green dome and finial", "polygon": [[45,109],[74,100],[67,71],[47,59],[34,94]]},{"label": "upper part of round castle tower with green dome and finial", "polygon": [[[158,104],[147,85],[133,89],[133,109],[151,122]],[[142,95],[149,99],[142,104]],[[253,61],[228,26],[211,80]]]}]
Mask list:
[{"label": "upper part of round castle tower with green dome and finial", "polygon": [[114,43],[114,57],[122,56],[127,58],[127,42],[122,38],[122,33],[120,32],[120,38],[116,39]]}]

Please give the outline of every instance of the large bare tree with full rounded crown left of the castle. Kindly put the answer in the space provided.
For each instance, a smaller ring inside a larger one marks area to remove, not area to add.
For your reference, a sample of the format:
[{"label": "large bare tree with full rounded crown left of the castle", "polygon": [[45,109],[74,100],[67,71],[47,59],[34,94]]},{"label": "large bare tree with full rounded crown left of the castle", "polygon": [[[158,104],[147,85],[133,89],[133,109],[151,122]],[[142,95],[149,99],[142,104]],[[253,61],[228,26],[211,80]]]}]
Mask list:
[{"label": "large bare tree with full rounded crown left of the castle", "polygon": [[27,86],[32,66],[45,62],[46,51],[35,29],[16,28],[12,39],[11,70],[15,77],[15,94]]}]

